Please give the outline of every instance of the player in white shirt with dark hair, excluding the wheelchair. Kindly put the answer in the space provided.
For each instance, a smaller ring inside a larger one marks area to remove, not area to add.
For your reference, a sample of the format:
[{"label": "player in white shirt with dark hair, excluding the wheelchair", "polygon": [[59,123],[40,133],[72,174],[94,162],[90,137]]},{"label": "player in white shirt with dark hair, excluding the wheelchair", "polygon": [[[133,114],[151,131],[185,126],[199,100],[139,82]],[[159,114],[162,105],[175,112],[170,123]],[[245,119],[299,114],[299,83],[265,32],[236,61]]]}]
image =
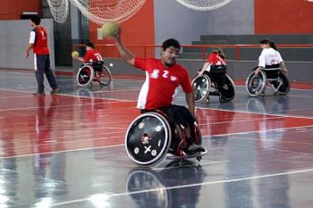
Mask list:
[{"label": "player in white shirt with dark hair, excluding the wheelchair", "polygon": [[255,74],[257,75],[262,69],[270,68],[281,68],[283,72],[287,73],[283,58],[277,51],[275,43],[268,39],[262,39],[259,41],[259,44],[263,50],[258,57],[258,67]]}]

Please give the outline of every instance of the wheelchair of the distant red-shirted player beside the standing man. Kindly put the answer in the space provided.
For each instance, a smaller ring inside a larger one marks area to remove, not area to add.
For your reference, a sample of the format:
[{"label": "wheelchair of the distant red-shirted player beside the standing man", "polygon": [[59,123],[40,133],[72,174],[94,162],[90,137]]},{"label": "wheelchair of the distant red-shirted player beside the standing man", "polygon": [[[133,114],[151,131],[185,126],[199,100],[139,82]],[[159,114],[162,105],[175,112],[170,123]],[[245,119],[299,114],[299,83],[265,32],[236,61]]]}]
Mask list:
[{"label": "wheelchair of the distant red-shirted player beside the standing man", "polygon": [[93,81],[97,81],[100,86],[107,86],[112,80],[111,71],[103,61],[86,62],[80,66],[76,74],[76,81],[80,87],[87,87]]}]

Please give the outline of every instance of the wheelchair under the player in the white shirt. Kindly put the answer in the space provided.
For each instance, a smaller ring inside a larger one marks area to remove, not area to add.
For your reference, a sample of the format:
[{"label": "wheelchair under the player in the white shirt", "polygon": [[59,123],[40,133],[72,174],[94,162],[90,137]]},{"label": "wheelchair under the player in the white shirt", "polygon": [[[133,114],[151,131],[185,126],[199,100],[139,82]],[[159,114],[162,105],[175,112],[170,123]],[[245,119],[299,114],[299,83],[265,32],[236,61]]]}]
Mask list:
[{"label": "wheelchair under the player in the white shirt", "polygon": [[289,79],[281,68],[265,68],[255,74],[252,71],[246,79],[246,90],[249,96],[259,96],[264,93],[266,85],[272,87],[275,94],[286,95],[290,91]]}]

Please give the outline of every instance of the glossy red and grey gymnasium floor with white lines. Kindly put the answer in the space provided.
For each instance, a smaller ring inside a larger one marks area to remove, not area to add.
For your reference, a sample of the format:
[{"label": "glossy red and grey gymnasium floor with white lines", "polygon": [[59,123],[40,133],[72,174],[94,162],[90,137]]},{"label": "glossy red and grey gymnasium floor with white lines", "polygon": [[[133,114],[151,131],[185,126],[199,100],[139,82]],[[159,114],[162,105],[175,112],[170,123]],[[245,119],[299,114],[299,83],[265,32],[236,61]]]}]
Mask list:
[{"label": "glossy red and grey gymnasium floor with white lines", "polygon": [[[32,96],[30,71],[0,70],[0,207],[311,208],[313,84],[288,96],[199,104],[208,153],[182,166],[131,162],[124,135],[139,115],[143,79],[78,87],[58,76],[60,94]],[[46,83],[46,86],[47,83]],[[184,104],[182,93],[177,104]]]}]

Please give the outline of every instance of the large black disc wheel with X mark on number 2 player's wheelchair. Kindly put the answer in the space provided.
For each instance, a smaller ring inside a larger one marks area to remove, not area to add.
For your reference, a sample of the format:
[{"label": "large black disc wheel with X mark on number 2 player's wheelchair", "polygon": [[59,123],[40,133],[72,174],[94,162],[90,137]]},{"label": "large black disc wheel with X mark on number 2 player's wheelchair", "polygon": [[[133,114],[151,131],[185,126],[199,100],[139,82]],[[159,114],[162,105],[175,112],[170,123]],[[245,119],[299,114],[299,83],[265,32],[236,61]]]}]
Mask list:
[{"label": "large black disc wheel with X mark on number 2 player's wheelchair", "polygon": [[165,117],[157,112],[146,112],[131,122],[125,149],[133,162],[154,165],[165,157],[171,139],[171,127]]}]

